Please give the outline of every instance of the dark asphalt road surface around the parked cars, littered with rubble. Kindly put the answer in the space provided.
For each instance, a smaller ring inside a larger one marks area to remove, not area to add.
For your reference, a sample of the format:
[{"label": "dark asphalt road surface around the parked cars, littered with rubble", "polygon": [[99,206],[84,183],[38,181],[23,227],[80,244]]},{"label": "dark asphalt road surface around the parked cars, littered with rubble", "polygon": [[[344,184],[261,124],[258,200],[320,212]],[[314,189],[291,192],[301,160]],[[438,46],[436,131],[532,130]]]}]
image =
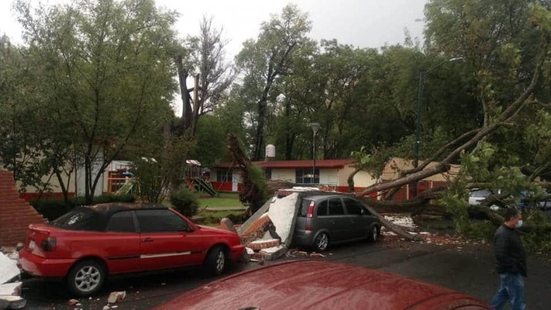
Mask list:
[{"label": "dark asphalt road surface around the parked cars, littered with rubble", "polygon": [[[494,257],[488,245],[435,245],[419,242],[381,240],[375,244],[356,242],[334,247],[324,260],[333,260],[398,273],[425,282],[490,300],[499,286]],[[290,256],[280,260],[304,259]],[[276,261],[277,262],[277,261]],[[271,264],[273,262],[267,262]],[[257,268],[256,262],[241,264],[232,273]],[[551,263],[528,258],[526,296],[528,309],[549,309]],[[200,287],[214,278],[205,278],[200,269],[114,278],[93,298],[79,299],[80,305],[67,305],[73,298],[61,283],[40,279],[23,282],[27,309],[103,309],[111,291],[126,291],[116,309],[152,309],[178,293]],[[112,306],[114,306],[112,305]]]}]

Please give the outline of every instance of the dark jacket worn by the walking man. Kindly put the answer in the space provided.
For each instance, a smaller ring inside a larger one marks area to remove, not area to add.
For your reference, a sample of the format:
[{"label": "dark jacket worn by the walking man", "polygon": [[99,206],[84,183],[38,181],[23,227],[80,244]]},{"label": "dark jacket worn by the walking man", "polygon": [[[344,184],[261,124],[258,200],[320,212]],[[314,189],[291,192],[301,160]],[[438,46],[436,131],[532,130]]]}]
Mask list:
[{"label": "dark jacket worn by the walking man", "polygon": [[501,225],[494,242],[497,273],[521,273],[526,277],[526,253],[517,230]]}]

